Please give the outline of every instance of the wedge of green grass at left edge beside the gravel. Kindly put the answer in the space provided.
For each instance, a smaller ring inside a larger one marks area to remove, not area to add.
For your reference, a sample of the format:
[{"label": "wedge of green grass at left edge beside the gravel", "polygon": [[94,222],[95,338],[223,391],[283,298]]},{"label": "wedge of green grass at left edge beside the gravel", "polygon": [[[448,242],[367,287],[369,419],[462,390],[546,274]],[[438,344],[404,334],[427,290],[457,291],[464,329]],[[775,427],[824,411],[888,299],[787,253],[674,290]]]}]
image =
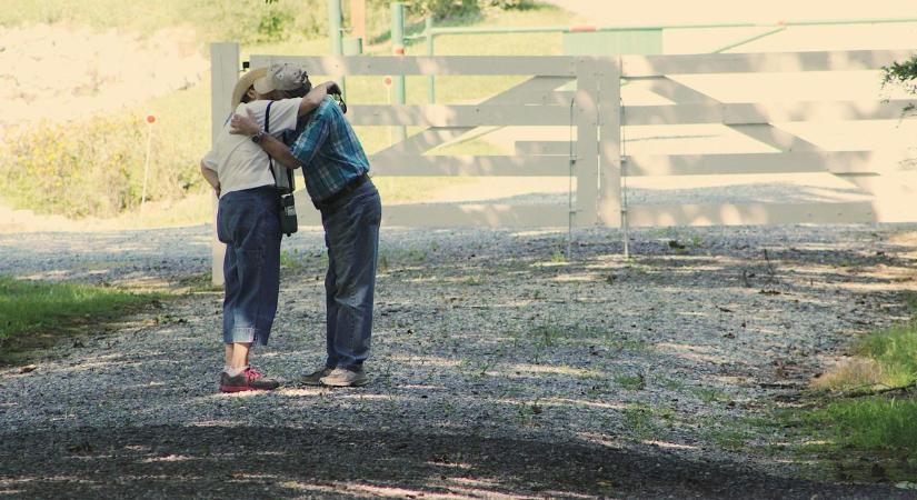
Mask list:
[{"label": "wedge of green grass at left edge beside the gravel", "polygon": [[0,364],[26,360],[79,327],[120,317],[161,297],[0,277]]}]

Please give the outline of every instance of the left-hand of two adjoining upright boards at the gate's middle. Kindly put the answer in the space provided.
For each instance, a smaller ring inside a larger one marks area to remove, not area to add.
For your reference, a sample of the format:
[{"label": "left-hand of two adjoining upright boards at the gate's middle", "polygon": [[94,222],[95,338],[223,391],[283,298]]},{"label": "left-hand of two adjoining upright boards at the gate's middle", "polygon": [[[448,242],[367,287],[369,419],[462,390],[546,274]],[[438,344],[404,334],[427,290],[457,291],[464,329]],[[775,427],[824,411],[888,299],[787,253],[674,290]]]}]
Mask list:
[{"label": "left-hand of two adjoining upright boards at the gate's middle", "polygon": [[576,61],[575,123],[577,203],[574,226],[598,222],[598,96],[599,80],[595,58]]}]

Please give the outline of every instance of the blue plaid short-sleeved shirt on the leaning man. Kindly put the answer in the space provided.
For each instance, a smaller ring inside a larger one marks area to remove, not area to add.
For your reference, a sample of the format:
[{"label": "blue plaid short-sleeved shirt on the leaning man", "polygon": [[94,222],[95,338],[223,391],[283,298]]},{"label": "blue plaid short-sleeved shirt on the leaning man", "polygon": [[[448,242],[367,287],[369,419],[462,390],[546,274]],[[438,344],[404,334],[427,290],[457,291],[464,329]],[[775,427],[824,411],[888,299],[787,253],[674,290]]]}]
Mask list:
[{"label": "blue plaid short-sleeved shirt on the leaning man", "polygon": [[369,171],[360,140],[330,97],[311,112],[290,150],[302,163],[306,190],[315,201],[328,199]]}]

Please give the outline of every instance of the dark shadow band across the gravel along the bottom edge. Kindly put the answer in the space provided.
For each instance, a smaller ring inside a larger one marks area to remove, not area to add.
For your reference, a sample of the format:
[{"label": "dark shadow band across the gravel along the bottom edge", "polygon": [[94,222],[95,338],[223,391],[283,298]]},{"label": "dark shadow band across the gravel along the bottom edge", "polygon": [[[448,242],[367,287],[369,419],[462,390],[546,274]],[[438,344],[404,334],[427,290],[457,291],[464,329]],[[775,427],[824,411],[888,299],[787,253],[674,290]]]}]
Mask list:
[{"label": "dark shadow band across the gravel along the bottom edge", "polygon": [[20,498],[914,498],[582,442],[178,426],[0,438],[0,496]]}]

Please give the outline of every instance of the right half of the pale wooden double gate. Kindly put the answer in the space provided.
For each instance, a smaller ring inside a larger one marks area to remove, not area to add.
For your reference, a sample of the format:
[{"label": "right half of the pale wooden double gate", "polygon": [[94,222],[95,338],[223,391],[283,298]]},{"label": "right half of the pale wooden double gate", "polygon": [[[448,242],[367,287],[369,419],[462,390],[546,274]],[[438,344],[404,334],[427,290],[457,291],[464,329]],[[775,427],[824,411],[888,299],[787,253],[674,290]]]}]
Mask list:
[{"label": "right half of the pale wooden double gate", "polygon": [[[915,172],[900,172],[895,151],[880,149],[824,150],[778,123],[810,122],[837,127],[860,120],[897,120],[913,100],[879,99],[876,79],[871,100],[800,101],[793,87],[779,100],[720,102],[670,76],[777,73],[791,79],[798,72],[831,72],[835,84],[850,71],[878,70],[910,57],[904,51],[794,53],[725,53],[701,56],[624,56],[622,81],[648,82],[671,103],[624,106],[622,127],[715,123],[769,147],[771,152],[627,156],[624,172],[641,176],[729,176],[828,172],[874,194],[870,201],[811,203],[681,204],[627,208],[629,226],[861,223],[917,220]],[[830,90],[830,89],[826,89]],[[773,94],[774,92],[769,92]],[[833,93],[833,92],[827,92]],[[875,138],[878,142],[878,139]],[[914,144],[917,144],[915,138]],[[752,200],[754,201],[754,200]]]}]

